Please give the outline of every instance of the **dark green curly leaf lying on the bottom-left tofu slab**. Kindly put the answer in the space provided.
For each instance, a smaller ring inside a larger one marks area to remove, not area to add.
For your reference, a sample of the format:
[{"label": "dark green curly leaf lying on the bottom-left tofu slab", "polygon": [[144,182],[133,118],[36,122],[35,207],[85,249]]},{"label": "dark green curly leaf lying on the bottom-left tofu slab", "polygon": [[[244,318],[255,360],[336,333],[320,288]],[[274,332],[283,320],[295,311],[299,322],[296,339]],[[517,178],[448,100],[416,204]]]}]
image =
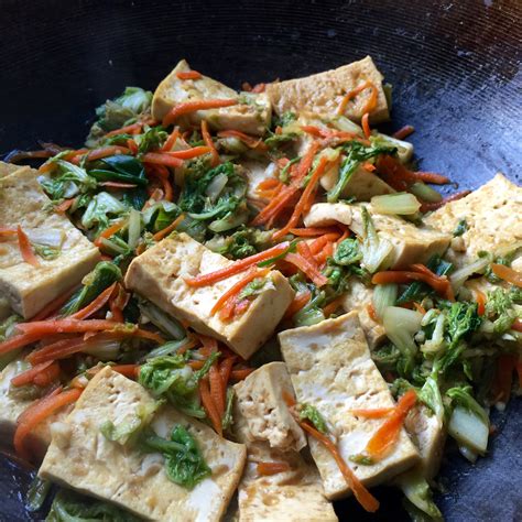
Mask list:
[{"label": "dark green curly leaf lying on the bottom-left tofu slab", "polygon": [[194,436],[181,424],[173,427],[171,438],[165,439],[153,433],[141,439],[145,452],[160,452],[165,458],[165,471],[175,483],[193,489],[211,475]]}]

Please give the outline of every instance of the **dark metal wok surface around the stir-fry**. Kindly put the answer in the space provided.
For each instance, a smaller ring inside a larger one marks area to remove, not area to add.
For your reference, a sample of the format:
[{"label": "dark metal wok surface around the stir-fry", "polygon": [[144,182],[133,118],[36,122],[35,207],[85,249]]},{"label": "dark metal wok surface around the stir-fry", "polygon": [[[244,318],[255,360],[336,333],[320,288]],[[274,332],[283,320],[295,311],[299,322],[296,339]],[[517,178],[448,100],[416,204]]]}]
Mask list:
[{"label": "dark metal wok surface around the stir-fry", "polygon": [[[393,84],[388,130],[416,128],[423,168],[460,188],[499,170],[520,184],[521,11],[519,0],[2,0],[0,152],[79,145],[95,107],[127,85],[153,89],[182,57],[239,87],[370,54]],[[437,502],[448,521],[520,520],[521,401],[493,424],[486,458],[472,466],[450,450],[444,460]],[[24,508],[30,477],[1,458],[0,520],[44,518]],[[407,520],[400,493],[376,493],[374,518],[347,500],[339,519]]]}]

